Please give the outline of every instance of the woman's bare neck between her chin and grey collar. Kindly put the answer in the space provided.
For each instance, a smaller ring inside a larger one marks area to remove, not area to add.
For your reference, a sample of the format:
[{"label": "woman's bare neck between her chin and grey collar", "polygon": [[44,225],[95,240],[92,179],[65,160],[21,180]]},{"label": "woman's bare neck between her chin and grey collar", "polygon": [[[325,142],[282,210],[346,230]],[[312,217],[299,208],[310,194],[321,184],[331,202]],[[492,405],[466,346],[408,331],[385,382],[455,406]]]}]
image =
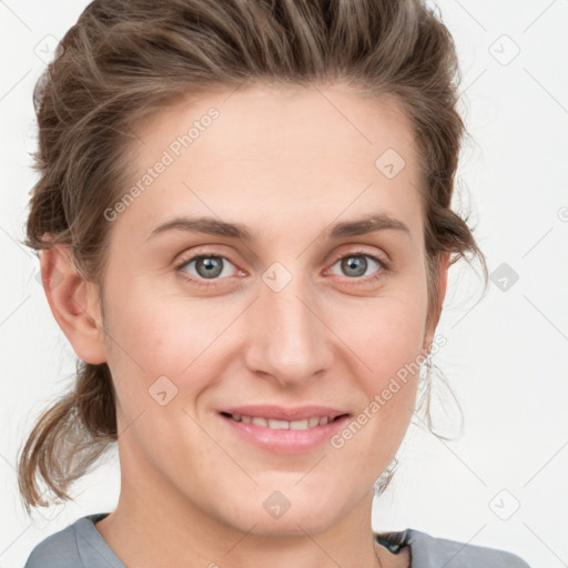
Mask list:
[{"label": "woman's bare neck between her chin and grey collar", "polygon": [[[140,457],[140,456],[136,456]],[[129,456],[126,463],[132,463]],[[125,464],[122,464],[125,465]],[[132,475],[134,470],[144,476]],[[148,464],[122,471],[116,509],[97,529],[126,566],[220,568],[386,568],[387,550],[374,542],[373,491],[338,523],[305,530],[301,520],[275,534],[260,524],[246,530],[215,518],[165,484]],[[261,520],[262,523],[262,520]],[[293,526],[292,526],[293,525]],[[378,556],[377,556],[378,555]],[[381,560],[378,559],[381,557]]]}]

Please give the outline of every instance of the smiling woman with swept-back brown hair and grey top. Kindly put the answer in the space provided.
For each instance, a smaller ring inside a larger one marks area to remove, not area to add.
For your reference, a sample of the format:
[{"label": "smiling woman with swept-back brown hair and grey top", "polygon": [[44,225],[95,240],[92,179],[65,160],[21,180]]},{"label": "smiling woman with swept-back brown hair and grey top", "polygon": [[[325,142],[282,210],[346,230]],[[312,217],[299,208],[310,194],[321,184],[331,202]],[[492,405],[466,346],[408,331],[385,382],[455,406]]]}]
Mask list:
[{"label": "smiling woman with swept-back brown hair and grey top", "polygon": [[487,278],[450,210],[456,72],[418,0],[84,10],[36,93],[28,221],[80,364],[20,488],[69,498],[116,442],[121,494],[28,568],[527,566],[371,526],[448,267]]}]

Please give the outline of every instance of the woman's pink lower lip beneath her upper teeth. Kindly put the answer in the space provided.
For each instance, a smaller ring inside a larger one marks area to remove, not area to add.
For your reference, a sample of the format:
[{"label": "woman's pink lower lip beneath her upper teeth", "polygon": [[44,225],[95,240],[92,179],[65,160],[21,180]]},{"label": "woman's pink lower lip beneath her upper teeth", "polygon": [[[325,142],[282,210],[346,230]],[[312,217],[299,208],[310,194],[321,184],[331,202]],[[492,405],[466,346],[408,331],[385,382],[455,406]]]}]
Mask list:
[{"label": "woman's pink lower lip beneath her upper teeth", "polygon": [[233,432],[245,440],[275,454],[304,454],[329,442],[329,438],[343,428],[348,416],[342,416],[323,426],[314,426],[305,430],[276,430],[267,426],[236,422],[220,415]]}]

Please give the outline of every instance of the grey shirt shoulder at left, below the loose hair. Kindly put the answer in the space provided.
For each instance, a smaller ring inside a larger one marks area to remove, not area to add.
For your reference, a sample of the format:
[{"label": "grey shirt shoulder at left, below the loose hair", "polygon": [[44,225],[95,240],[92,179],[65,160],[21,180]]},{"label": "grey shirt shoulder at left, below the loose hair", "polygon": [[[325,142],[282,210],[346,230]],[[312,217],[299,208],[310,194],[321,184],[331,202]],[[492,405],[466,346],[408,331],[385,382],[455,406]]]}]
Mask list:
[{"label": "grey shirt shoulder at left, below the loose hair", "polygon": [[97,530],[108,514],[88,515],[37,545],[24,568],[124,568]]}]

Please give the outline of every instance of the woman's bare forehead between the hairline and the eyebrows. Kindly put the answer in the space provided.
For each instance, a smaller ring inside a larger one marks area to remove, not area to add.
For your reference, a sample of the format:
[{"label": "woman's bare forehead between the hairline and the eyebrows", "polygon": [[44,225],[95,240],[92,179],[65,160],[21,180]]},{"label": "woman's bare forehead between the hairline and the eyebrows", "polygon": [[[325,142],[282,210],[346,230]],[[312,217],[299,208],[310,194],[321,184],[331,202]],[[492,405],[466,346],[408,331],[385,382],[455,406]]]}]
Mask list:
[{"label": "woman's bare forehead between the hairline and the eyebrows", "polygon": [[264,223],[371,207],[405,212],[407,224],[419,215],[413,132],[393,99],[342,85],[227,89],[163,108],[136,133],[133,183],[166,163],[136,199],[154,222],[173,209]]}]

